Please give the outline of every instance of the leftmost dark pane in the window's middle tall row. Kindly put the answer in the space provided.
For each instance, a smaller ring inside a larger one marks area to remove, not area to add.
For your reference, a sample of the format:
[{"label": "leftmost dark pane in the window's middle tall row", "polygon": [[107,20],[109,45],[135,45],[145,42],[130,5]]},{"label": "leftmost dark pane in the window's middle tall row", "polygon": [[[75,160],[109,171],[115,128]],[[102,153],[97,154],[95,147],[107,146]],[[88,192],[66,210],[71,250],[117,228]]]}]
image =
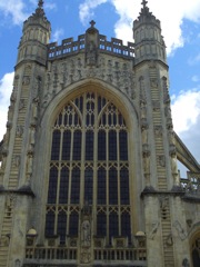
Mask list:
[{"label": "leftmost dark pane in the window's middle tall row", "polygon": [[58,186],[58,169],[53,167],[50,169],[49,174],[48,204],[57,202],[57,186]]}]

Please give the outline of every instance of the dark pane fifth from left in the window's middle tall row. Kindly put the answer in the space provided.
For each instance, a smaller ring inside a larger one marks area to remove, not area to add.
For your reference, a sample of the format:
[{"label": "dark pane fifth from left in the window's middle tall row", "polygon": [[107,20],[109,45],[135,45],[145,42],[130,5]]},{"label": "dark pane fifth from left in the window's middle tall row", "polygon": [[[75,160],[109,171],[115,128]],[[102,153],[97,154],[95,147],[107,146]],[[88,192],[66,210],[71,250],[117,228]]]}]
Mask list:
[{"label": "dark pane fifth from left in the window's middle tall row", "polygon": [[98,204],[106,204],[107,201],[107,171],[104,168],[98,170]]}]

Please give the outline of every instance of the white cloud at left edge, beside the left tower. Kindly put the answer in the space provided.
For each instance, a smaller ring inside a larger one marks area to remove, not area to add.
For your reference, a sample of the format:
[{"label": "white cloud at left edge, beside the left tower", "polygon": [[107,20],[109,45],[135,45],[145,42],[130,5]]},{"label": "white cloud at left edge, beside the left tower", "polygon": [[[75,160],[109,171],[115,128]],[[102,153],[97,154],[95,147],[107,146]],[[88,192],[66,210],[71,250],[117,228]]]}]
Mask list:
[{"label": "white cloud at left edge, beside the left tower", "polygon": [[13,76],[14,72],[6,73],[0,80],[0,141],[6,132],[7,113],[12,91]]}]

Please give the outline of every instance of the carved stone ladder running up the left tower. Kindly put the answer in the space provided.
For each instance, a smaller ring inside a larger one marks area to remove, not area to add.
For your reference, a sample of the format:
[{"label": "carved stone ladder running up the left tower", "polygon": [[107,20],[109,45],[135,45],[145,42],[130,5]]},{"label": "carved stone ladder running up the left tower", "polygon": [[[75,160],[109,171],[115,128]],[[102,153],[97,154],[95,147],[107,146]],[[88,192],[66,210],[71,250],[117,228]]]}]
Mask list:
[{"label": "carved stone ladder running up the left tower", "polygon": [[[16,127],[16,137],[12,152],[12,161],[10,167],[10,176],[8,181],[8,190],[17,190],[19,186],[22,139],[24,131],[24,122],[27,116],[27,103],[29,96],[31,68],[27,67],[22,80],[21,97],[18,105],[18,119]],[[0,267],[6,267],[8,263],[8,254],[10,246],[10,237],[12,231],[14,196],[8,194],[6,196],[4,214],[2,219],[1,239],[0,239]]]}]

